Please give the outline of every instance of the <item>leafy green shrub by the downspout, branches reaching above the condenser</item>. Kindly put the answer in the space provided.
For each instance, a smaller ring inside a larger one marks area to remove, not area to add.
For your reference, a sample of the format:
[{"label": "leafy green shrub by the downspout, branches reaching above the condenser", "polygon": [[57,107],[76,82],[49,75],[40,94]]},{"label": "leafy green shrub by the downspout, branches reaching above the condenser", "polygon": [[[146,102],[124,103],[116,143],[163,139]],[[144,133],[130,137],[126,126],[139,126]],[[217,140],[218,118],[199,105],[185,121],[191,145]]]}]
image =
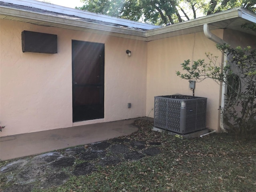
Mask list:
[{"label": "leafy green shrub by the downspout, branches reaching above the condenser", "polygon": [[183,79],[202,81],[206,78],[226,86],[225,105],[221,109],[226,130],[236,136],[248,137],[256,132],[256,50],[251,47],[231,48],[229,45],[217,45],[229,58],[222,69],[216,65],[216,57],[206,54],[205,60],[190,60],[182,63],[186,73],[176,72]]}]

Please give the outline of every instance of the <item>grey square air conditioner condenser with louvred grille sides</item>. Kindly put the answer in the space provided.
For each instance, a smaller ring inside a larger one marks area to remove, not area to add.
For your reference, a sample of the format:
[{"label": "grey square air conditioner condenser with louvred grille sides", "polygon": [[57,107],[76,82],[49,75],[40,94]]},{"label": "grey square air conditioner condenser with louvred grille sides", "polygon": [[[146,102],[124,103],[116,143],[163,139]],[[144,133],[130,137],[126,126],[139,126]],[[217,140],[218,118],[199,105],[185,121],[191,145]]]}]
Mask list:
[{"label": "grey square air conditioner condenser with louvred grille sides", "polygon": [[186,134],[206,128],[207,98],[194,96],[156,96],[154,126]]}]

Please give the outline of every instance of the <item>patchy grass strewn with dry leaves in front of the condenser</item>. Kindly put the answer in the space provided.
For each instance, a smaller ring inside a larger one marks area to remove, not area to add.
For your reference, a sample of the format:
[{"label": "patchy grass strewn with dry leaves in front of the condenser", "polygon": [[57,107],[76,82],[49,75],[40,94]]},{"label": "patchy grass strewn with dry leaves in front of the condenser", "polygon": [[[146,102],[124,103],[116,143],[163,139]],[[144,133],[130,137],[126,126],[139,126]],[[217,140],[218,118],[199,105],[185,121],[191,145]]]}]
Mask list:
[{"label": "patchy grass strewn with dry leaves in front of the condenser", "polygon": [[[139,131],[122,138],[160,142],[161,153],[115,166],[96,165],[86,176],[70,176],[61,186],[33,192],[192,192],[256,191],[256,140],[210,134],[190,140],[152,132],[152,122],[138,120]],[[90,161],[93,163],[93,161]],[[79,163],[79,162],[77,162]],[[3,183],[2,183],[3,184]]]}]

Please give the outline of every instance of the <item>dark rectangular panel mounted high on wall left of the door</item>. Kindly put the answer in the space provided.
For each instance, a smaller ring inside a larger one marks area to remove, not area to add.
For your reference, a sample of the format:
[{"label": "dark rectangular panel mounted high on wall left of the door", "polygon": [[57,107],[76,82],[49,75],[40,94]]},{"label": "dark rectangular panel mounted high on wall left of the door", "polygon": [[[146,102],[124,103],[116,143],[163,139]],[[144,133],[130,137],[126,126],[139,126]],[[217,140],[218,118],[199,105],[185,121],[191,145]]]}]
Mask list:
[{"label": "dark rectangular panel mounted high on wall left of the door", "polygon": [[57,53],[57,35],[22,31],[22,52]]}]

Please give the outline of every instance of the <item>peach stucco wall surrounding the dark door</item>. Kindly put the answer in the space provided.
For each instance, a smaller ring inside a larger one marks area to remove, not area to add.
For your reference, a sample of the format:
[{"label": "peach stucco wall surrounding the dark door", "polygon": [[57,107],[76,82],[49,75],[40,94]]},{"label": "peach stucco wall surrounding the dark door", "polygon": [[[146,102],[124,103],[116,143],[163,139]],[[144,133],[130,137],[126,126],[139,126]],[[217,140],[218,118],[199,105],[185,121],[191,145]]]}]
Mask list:
[{"label": "peach stucco wall surrounding the dark door", "polygon": [[[58,54],[23,53],[23,30],[57,34]],[[72,39],[105,44],[104,119],[72,122]],[[146,42],[1,20],[0,46],[1,136],[145,116]]]}]

